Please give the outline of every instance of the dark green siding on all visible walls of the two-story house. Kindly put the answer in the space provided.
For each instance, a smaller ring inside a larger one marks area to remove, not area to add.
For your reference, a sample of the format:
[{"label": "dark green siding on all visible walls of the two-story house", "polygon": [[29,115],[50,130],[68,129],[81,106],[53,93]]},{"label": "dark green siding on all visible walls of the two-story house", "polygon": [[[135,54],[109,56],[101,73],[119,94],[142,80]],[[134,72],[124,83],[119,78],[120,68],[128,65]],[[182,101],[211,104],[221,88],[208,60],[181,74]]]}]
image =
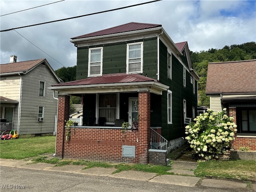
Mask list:
[{"label": "dark green siding on all visible walls of the two-story house", "polygon": [[[97,47],[103,47],[102,74],[126,72],[127,44],[134,42],[143,42],[143,75],[157,79],[158,45],[156,37],[98,45]],[[95,46],[80,47],[77,50],[77,79],[88,77],[88,50],[92,47]],[[196,110],[197,95],[193,94],[193,85],[190,83],[188,71],[186,71],[186,87],[183,86],[183,65],[174,55],[172,55],[172,80],[167,77],[167,47],[161,40],[159,48],[159,81],[170,86],[169,89],[172,91],[172,124],[167,123],[167,91],[163,91],[162,95],[151,94],[150,126],[162,127],[162,136],[167,140],[172,140],[184,136],[183,99],[186,99],[187,117],[192,118],[192,106]],[[185,56],[181,56],[181,60],[188,66]],[[195,90],[197,90],[197,87]],[[137,95],[138,93],[136,93]],[[120,109],[123,109],[120,110],[120,118],[127,121],[127,104],[130,96],[131,93],[120,93]],[[95,95],[89,95],[87,99],[93,102],[87,106],[88,108],[84,108],[84,111],[88,112],[84,114],[84,118],[90,116],[90,114],[95,114]]]}]

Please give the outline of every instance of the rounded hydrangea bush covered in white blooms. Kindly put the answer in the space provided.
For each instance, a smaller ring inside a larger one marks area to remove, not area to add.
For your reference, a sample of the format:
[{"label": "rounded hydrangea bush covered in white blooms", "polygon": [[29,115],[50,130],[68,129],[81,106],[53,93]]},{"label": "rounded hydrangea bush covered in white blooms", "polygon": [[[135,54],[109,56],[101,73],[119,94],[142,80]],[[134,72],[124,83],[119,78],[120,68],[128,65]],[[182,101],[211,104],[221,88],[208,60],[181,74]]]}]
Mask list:
[{"label": "rounded hydrangea bush covered in white blooms", "polygon": [[206,160],[218,159],[219,155],[226,152],[225,147],[234,140],[237,126],[233,120],[233,117],[226,115],[226,108],[221,112],[208,109],[186,126],[185,133],[188,136],[185,139],[198,156]]}]

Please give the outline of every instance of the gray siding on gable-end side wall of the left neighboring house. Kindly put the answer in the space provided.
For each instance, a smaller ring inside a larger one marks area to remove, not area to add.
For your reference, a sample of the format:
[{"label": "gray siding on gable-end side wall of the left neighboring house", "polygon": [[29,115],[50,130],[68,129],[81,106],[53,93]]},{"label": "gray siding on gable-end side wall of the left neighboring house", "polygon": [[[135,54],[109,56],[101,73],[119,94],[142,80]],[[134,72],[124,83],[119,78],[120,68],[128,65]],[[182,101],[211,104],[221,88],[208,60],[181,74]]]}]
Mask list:
[{"label": "gray siding on gable-end side wall of the left neighboring house", "polygon": [[[44,97],[38,96],[38,82],[45,81]],[[20,102],[20,134],[44,134],[54,132],[58,100],[53,91],[47,89],[58,84],[47,66],[41,64],[22,76],[22,96]],[[38,106],[44,106],[44,122],[38,122]],[[14,112],[15,114],[16,112]]]}]

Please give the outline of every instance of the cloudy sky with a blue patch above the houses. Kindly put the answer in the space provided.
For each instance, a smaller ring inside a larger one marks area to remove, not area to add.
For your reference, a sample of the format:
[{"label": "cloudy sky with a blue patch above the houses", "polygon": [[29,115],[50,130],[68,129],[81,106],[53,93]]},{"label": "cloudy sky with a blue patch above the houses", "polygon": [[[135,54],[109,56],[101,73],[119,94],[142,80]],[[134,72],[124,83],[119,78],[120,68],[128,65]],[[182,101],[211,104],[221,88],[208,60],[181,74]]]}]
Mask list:
[{"label": "cloudy sky with a blue patch above the houses", "polygon": [[[150,0],[57,1],[59,0],[1,0],[0,29],[70,18]],[[57,3],[41,6],[52,2]],[[41,7],[9,14],[36,6]],[[9,15],[2,16],[4,14]],[[63,66],[74,66],[76,47],[70,42],[70,38],[129,22],[162,24],[175,43],[188,41],[188,47],[193,52],[209,48],[220,49],[225,45],[256,41],[256,1],[162,0],[92,16],[1,32],[0,63],[9,63],[10,55],[16,55],[18,62],[46,58],[54,70]]]}]

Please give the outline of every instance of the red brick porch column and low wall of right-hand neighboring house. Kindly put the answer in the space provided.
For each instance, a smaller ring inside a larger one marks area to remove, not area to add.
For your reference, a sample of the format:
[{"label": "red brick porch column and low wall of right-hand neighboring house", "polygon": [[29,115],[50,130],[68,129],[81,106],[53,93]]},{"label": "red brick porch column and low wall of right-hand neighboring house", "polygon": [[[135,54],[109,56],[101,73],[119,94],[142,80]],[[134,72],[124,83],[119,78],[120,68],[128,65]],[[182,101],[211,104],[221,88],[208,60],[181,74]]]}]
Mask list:
[{"label": "red brick porch column and low wall of right-hand neighboring house", "polygon": [[[236,108],[229,108],[229,116],[234,117],[234,123],[236,124]],[[256,138],[235,136],[235,140],[231,143],[231,148],[239,150],[240,147],[248,147],[252,151],[256,151]]]}]

